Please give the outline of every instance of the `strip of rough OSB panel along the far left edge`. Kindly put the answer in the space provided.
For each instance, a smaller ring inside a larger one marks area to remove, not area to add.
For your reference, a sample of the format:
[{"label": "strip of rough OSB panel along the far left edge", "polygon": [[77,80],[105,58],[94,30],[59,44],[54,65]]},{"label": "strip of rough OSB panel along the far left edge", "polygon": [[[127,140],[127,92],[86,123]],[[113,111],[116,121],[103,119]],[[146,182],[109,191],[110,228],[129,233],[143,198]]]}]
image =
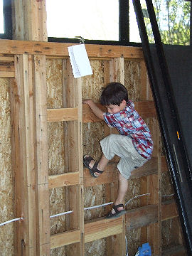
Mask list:
[{"label": "strip of rough OSB panel along the far left edge", "polygon": [[[10,86],[10,79],[0,78],[0,223],[17,217],[11,168]],[[0,234],[1,254],[14,255],[14,224],[2,226]]]}]

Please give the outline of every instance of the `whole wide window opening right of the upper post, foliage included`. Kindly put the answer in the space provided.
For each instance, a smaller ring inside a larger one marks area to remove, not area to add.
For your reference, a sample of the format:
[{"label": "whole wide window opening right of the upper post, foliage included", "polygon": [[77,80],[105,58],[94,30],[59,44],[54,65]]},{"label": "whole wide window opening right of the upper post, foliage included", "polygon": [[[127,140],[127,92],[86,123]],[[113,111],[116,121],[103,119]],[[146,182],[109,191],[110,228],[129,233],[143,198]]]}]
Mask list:
[{"label": "whole wide window opening right of the upper post, foliage included", "polygon": [[[139,1],[139,0],[138,0]],[[141,0],[150,43],[154,43],[146,3]],[[190,44],[191,1],[153,0],[161,40]],[[132,0],[47,0],[48,41],[134,46],[141,43]]]}]

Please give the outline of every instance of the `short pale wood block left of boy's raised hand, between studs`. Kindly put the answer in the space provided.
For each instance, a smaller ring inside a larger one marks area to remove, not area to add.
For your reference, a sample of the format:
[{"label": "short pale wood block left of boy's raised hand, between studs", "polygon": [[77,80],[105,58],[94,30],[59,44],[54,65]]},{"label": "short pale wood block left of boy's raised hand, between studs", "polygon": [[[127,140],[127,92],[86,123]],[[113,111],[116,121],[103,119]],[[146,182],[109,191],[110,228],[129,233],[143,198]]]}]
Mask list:
[{"label": "short pale wood block left of boy's raised hand, between studs", "polygon": [[48,122],[62,122],[78,120],[78,108],[48,109]]}]

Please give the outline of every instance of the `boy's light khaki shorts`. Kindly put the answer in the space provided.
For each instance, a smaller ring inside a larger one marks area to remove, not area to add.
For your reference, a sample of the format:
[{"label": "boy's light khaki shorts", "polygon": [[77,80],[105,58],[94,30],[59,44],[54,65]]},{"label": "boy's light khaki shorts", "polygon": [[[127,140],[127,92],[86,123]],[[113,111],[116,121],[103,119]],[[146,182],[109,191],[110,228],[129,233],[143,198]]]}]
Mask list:
[{"label": "boy's light khaki shorts", "polygon": [[114,155],[120,157],[117,168],[124,178],[128,179],[134,169],[142,166],[147,161],[137,152],[132,139],[127,136],[110,134],[100,141],[100,145],[102,153],[108,160],[111,160]]}]

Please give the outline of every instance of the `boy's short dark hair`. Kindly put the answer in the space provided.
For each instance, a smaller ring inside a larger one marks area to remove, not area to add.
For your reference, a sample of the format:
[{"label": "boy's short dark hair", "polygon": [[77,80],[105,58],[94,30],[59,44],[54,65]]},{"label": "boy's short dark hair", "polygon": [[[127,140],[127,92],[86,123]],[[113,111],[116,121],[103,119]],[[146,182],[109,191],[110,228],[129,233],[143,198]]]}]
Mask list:
[{"label": "boy's short dark hair", "polygon": [[102,91],[100,102],[104,106],[120,105],[122,100],[128,102],[127,89],[120,82],[110,82]]}]

